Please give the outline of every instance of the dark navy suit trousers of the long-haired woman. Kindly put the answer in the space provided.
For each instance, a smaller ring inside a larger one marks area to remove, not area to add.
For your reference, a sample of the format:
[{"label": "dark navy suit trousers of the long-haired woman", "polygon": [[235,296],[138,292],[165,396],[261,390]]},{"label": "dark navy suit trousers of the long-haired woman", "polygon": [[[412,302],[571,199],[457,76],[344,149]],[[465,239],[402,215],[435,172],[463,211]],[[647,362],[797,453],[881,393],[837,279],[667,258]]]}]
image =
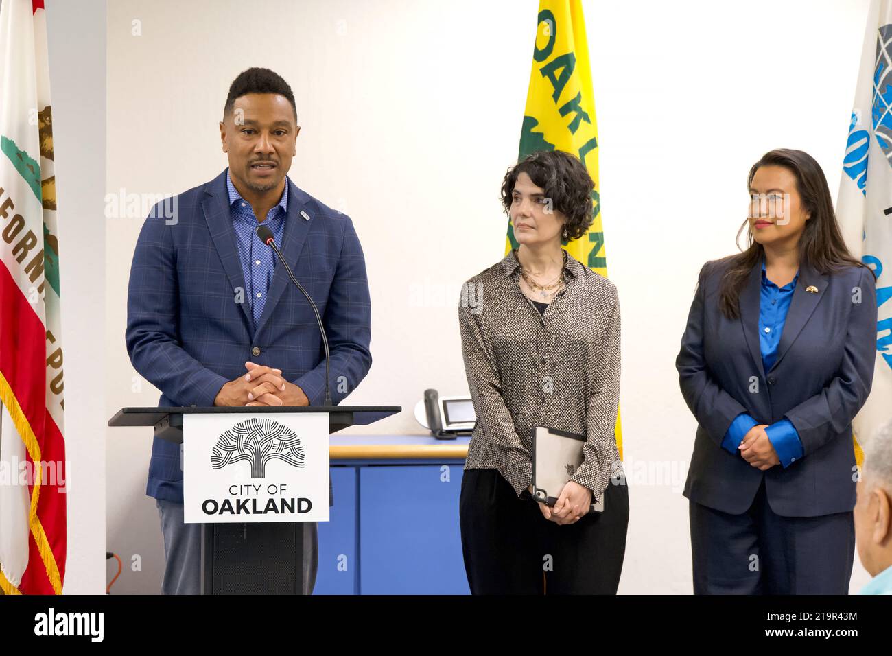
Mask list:
[{"label": "dark navy suit trousers of the long-haired woman", "polygon": [[739,515],[690,502],[690,547],[694,594],[848,594],[855,522],[777,515],[763,480]]}]

